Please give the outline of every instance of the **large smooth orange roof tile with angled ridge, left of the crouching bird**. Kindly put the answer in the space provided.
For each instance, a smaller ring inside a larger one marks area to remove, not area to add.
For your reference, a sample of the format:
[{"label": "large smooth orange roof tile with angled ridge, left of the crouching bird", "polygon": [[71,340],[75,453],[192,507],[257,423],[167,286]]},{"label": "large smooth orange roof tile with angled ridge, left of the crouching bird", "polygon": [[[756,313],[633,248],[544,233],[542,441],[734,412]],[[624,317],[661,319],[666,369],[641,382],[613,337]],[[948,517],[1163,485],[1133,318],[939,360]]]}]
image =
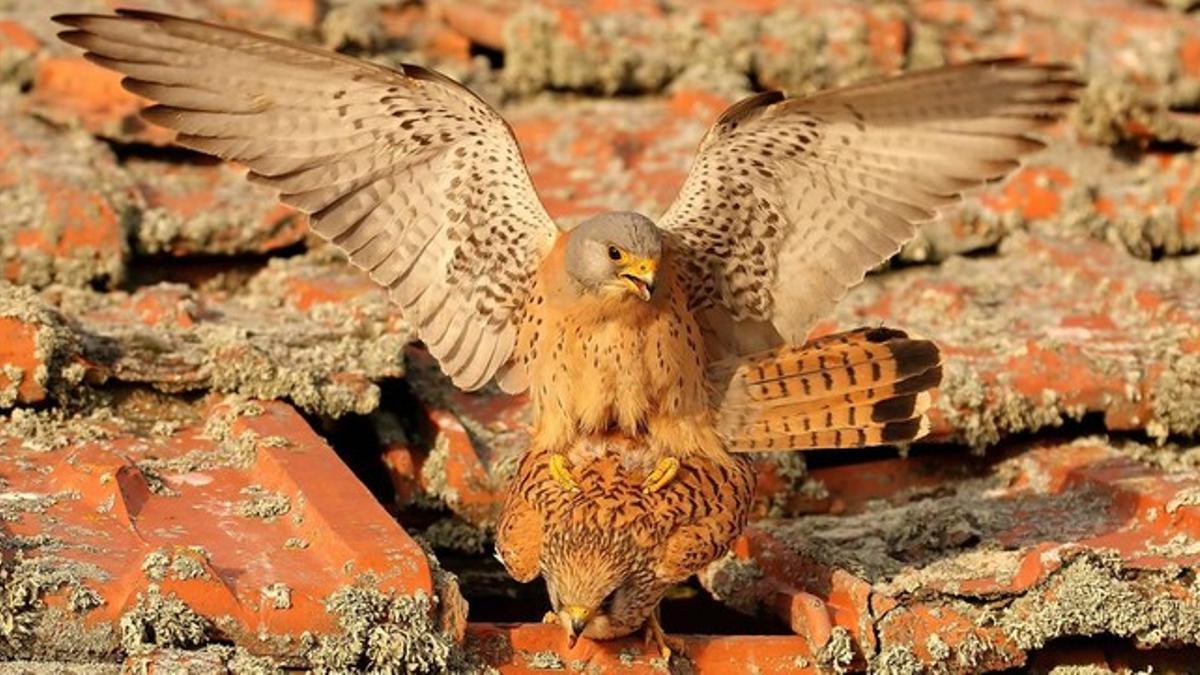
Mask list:
[{"label": "large smooth orange roof tile with angled ridge, left of the crouching bird", "polygon": [[133,393],[20,410],[0,420],[0,455],[4,575],[28,590],[0,651],[224,641],[334,670],[457,653],[452,580],[284,404]]}]

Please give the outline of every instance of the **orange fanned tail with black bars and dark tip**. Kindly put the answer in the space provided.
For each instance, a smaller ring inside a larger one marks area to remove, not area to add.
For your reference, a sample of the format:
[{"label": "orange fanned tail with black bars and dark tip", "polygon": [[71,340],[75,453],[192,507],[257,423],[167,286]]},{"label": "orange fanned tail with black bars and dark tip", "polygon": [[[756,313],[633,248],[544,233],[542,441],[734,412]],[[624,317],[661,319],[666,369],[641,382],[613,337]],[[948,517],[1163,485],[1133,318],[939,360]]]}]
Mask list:
[{"label": "orange fanned tail with black bars and dark tip", "polygon": [[895,329],[840,333],[738,362],[721,402],[733,452],[857,448],[929,432],[941,353]]}]

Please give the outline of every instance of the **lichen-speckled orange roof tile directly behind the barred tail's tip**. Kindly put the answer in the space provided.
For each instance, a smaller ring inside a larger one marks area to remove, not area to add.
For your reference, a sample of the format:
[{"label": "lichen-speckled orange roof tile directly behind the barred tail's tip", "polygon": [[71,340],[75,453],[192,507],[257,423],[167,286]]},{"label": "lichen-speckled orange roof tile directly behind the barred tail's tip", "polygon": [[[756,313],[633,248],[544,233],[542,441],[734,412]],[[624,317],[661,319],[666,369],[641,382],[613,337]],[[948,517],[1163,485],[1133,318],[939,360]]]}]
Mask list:
[{"label": "lichen-speckled orange roof tile directly behind the barred tail's tip", "polygon": [[1020,234],[995,257],[868,277],[818,330],[887,322],[935,340],[946,376],[934,432],[976,447],[1088,413],[1114,430],[1194,435],[1196,264]]}]

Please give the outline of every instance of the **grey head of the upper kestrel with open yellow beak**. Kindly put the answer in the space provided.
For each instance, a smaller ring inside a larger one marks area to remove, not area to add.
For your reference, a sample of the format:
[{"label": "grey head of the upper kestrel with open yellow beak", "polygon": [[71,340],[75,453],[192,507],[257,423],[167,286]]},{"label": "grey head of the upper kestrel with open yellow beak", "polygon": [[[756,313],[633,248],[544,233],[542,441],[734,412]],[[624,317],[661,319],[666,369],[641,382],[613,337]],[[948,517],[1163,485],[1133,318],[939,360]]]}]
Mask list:
[{"label": "grey head of the upper kestrel with open yellow beak", "polygon": [[613,211],[593,216],[571,231],[566,274],[588,293],[654,294],[662,256],[662,232],[641,214]]}]

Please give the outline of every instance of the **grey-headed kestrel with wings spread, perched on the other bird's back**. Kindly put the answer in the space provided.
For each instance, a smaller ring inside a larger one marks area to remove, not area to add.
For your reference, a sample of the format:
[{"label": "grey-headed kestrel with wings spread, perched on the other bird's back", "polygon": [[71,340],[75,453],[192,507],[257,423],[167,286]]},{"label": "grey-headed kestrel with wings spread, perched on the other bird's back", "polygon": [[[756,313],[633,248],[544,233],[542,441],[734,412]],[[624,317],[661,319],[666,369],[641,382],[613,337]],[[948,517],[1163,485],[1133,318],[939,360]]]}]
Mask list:
[{"label": "grey-headed kestrel with wings spread, perched on the other bird's back", "polygon": [[[755,392],[786,374],[737,359],[803,344],[918,223],[1040,148],[1027,135],[1080,85],[1060,66],[1000,59],[808,97],[757,94],[716,120],[656,222],[610,213],[563,228],[499,114],[433,71],[145,11],[55,20],[157,103],[145,119],[306,213],[389,291],[457,386],[530,389],[532,449],[551,452],[568,490],[578,484],[565,453],[590,435],[644,438],[659,456],[648,490],[686,458],[912,440],[917,411],[864,414],[869,365],[848,370],[841,392],[824,376],[797,381],[824,387],[836,414],[809,414],[816,404],[791,396],[811,392],[784,387],[762,419]],[[852,357],[866,358],[839,358]],[[740,411],[725,419],[761,423],[750,438],[721,428],[724,400]]]}]

